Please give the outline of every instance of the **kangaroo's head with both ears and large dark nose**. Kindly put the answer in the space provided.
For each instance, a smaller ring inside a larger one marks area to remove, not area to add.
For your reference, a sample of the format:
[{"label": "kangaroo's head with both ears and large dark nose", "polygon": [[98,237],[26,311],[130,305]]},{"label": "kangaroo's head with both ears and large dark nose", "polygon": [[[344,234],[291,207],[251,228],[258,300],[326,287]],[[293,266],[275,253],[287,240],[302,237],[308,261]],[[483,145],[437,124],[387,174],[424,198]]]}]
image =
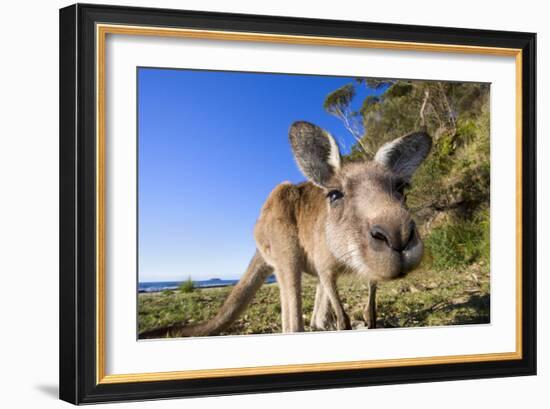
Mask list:
[{"label": "kangaroo's head with both ears and large dark nose", "polygon": [[337,260],[372,280],[418,266],[423,245],[404,189],[430,152],[426,133],[388,142],[361,163],[344,164],[333,137],[307,122],[292,125],[290,144],[302,173],[326,196],[324,235]]}]

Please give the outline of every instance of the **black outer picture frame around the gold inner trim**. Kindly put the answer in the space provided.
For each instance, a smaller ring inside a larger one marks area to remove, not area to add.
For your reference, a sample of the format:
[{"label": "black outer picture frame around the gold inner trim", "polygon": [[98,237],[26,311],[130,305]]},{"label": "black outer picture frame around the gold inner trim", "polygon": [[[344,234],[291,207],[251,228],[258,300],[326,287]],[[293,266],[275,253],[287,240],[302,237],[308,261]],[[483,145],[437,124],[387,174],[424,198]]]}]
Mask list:
[{"label": "black outer picture frame around the gold inner trim", "polygon": [[[149,382],[97,382],[96,23],[522,52],[521,359]],[[60,398],[74,404],[536,374],[536,35],[77,4],[60,10]]]}]

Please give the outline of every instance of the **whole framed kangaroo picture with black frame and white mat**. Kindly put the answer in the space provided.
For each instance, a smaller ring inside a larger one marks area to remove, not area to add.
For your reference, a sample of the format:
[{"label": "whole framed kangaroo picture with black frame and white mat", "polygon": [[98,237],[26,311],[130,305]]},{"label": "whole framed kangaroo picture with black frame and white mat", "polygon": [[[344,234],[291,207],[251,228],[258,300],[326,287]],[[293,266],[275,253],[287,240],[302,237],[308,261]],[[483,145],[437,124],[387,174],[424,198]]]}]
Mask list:
[{"label": "whole framed kangaroo picture with black frame and white mat", "polygon": [[535,41],[61,9],[61,399],[535,374]]}]

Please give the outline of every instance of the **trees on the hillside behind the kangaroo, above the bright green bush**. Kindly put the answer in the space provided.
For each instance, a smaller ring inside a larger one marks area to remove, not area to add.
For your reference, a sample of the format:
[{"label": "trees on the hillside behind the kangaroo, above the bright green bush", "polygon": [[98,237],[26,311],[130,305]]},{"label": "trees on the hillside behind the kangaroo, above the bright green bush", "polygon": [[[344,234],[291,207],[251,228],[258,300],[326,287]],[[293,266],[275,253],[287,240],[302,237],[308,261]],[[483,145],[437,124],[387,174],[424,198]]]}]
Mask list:
[{"label": "trees on the hillside behind the kangaroo, above the bright green bush", "polygon": [[[382,92],[355,112],[359,86]],[[432,153],[409,192],[409,204],[426,220],[440,212],[470,217],[488,206],[487,84],[358,78],[329,94],[324,108],[356,141],[348,161],[372,159],[383,143],[421,128],[432,135]]]}]

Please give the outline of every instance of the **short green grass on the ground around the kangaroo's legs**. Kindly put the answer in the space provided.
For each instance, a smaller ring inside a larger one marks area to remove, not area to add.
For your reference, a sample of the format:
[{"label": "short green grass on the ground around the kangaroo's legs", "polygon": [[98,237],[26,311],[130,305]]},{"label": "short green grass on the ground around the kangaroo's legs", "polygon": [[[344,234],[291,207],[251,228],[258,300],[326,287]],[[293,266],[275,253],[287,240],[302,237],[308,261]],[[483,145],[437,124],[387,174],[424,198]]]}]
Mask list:
[{"label": "short green grass on the ground around the kangaroo's legs", "polygon": [[[306,331],[313,310],[316,279],[304,277],[303,313]],[[364,328],[363,309],[368,287],[353,276],[338,283],[339,292],[356,329]],[[232,287],[192,292],[142,293],[138,297],[139,331],[212,318]],[[423,327],[488,323],[490,317],[489,266],[479,261],[461,269],[422,268],[407,277],[381,283],[377,292],[380,328]],[[277,284],[266,284],[241,317],[221,335],[281,332]]]}]

